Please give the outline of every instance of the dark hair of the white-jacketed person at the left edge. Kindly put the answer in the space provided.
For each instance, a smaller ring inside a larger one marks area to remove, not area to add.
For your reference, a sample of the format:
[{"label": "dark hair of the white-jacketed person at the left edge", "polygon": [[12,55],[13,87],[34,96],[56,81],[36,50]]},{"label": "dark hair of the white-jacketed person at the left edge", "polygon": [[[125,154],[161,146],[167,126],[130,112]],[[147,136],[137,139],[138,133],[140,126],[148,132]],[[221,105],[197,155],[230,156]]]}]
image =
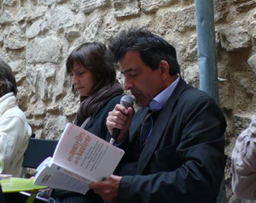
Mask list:
[{"label": "dark hair of the white-jacketed person at the left edge", "polygon": [[9,65],[0,58],[0,82],[2,87],[0,87],[0,97],[4,94],[14,93],[17,95],[17,84],[15,80],[15,75]]}]

